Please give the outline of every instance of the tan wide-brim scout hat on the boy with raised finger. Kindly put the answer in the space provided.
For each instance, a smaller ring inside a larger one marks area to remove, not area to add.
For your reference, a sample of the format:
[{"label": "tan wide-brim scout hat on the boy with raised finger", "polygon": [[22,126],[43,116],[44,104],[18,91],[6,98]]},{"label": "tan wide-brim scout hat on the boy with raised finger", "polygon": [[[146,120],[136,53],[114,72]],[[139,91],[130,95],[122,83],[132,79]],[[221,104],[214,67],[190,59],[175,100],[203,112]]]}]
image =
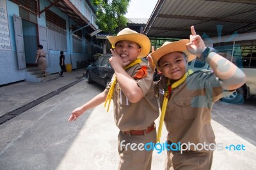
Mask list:
[{"label": "tan wide-brim scout hat on the boy with raised finger", "polygon": [[188,51],[186,46],[187,43],[189,43],[188,39],[179,40],[177,42],[164,42],[159,49],[151,53],[154,63],[157,64],[161,57],[171,52],[183,52],[188,56],[188,62],[192,61],[196,56]]}]

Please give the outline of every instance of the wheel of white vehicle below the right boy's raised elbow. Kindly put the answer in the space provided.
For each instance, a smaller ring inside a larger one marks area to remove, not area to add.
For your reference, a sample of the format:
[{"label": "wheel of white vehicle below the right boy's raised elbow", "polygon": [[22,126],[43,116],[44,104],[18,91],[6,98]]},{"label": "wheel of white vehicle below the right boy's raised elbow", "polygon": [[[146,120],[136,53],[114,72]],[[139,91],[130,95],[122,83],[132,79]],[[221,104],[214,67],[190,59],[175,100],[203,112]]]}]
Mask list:
[{"label": "wheel of white vehicle below the right boy's raised elbow", "polygon": [[223,97],[221,100],[230,104],[242,104],[244,100],[244,89],[242,87],[238,88],[232,93],[232,95]]}]

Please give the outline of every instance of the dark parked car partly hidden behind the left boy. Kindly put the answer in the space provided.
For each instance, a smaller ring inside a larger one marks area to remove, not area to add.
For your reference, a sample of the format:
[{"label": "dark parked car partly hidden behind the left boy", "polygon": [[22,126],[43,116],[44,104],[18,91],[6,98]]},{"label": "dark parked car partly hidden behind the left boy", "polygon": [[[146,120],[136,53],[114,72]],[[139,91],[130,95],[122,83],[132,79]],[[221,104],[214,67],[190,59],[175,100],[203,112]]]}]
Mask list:
[{"label": "dark parked car partly hidden behind the left boy", "polygon": [[92,65],[87,67],[88,83],[97,82],[101,86],[108,86],[114,73],[108,61],[111,57],[112,54],[102,54]]}]

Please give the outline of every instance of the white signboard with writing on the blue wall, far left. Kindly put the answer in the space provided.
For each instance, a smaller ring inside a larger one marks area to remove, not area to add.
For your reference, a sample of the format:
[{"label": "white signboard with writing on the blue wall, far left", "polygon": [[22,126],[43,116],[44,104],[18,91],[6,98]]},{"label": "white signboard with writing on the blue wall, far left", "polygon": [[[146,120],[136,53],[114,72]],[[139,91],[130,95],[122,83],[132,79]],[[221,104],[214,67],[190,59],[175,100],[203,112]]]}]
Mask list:
[{"label": "white signboard with writing on the blue wall, far left", "polygon": [[6,0],[0,0],[0,50],[12,50]]}]

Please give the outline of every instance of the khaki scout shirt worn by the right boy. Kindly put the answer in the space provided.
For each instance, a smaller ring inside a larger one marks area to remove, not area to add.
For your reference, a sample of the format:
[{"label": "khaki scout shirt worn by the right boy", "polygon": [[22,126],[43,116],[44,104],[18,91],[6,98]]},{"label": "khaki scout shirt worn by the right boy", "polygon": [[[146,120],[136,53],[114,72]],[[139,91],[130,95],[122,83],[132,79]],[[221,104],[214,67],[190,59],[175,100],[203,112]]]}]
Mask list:
[{"label": "khaki scout shirt worn by the right boy", "polygon": [[[167,82],[168,79],[164,77],[155,86],[161,107]],[[186,81],[170,94],[164,117],[168,130],[167,139],[177,144],[215,144],[211,126],[212,105],[222,98],[224,93],[227,95],[229,92],[223,91],[220,80],[214,73],[197,71],[189,75]],[[190,150],[195,148],[191,146]]]}]

